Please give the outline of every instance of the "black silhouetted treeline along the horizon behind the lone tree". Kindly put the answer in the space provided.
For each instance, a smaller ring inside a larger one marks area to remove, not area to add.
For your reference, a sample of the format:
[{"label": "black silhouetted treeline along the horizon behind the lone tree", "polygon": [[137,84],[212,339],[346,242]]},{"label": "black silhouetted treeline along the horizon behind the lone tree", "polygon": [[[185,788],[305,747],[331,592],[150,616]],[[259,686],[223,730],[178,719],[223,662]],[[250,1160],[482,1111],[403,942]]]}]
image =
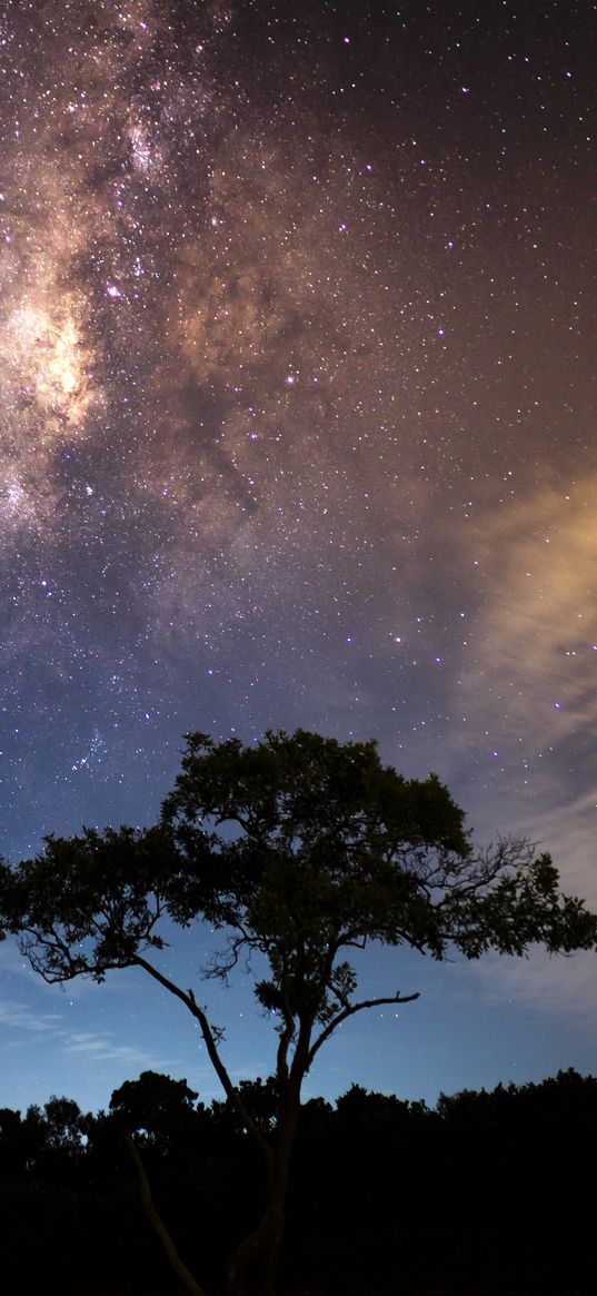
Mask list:
[{"label": "black silhouetted treeline along the horizon behind the lone tree", "polygon": [[[259,1129],[272,1082],[243,1082]],[[23,1296],[179,1291],[141,1205],[155,1204],[208,1290],[259,1216],[263,1166],[228,1102],[145,1072],[107,1112],[52,1098],[0,1111],[1,1277]],[[597,1291],[597,1078],[442,1096],[354,1085],[302,1109],[280,1291]]]}]

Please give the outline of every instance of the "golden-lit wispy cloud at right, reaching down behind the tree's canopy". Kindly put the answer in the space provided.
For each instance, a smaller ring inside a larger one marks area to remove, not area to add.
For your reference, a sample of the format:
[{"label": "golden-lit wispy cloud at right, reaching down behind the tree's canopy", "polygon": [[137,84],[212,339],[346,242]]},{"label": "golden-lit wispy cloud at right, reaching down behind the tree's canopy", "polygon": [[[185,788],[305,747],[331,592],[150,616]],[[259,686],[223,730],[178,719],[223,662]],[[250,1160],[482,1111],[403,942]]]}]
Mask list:
[{"label": "golden-lit wispy cloud at right, reaching down behind the tree's canopy", "polygon": [[[469,723],[452,767],[482,835],[527,835],[597,908],[597,476],[486,513],[467,557],[484,600],[455,688]],[[592,954],[490,956],[475,975],[484,995],[597,1019]]]}]

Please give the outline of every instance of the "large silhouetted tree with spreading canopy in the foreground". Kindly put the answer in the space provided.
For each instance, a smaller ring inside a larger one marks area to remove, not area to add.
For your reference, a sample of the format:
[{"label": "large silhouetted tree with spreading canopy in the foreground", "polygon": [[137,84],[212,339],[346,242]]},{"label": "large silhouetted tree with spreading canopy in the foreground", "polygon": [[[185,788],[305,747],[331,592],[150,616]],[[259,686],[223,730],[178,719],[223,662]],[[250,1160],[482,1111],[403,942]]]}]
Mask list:
[{"label": "large silhouetted tree with spreading canopy in the foreground", "polygon": [[[267,1172],[260,1220],[228,1266],[233,1296],[273,1291],[300,1090],[320,1048],[356,1013],[418,997],[359,998],[351,951],[382,942],[475,959],[597,943],[597,919],[559,894],[549,855],[513,839],[477,850],[435,775],[407,780],[374,743],[302,730],[255,746],[188,736],[157,827],[47,839],[35,859],[3,866],[0,919],[44,980],[140,967],[197,1020]],[[277,1032],[272,1133],[233,1085],[194,990],[159,966],[164,919],[198,924],[199,941],[206,921],[225,933],[211,976],[253,956],[255,995]]]}]

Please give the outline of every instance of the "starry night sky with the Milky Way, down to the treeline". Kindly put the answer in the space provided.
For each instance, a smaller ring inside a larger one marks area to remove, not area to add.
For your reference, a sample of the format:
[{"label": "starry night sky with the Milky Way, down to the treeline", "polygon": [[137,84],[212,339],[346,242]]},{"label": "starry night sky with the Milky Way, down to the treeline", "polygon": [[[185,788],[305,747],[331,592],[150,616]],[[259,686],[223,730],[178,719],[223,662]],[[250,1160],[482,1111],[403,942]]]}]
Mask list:
[{"label": "starry night sky with the Milky Way, down to the treeline", "polygon": [[[597,5],[6,0],[0,849],[155,820],[184,732],[376,737],[597,905]],[[236,1077],[271,1025],[202,988]],[[372,951],[307,1093],[597,1070],[591,955]],[[141,973],[0,947],[0,1105],[218,1094]]]}]

